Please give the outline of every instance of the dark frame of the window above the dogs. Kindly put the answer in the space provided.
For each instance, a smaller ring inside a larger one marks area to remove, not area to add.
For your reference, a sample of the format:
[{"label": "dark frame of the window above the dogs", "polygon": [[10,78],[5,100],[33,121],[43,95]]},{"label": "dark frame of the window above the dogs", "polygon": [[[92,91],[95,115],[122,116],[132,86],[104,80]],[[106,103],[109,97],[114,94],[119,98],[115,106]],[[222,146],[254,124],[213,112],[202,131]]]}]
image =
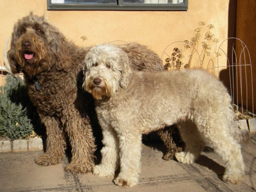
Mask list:
[{"label": "dark frame of the window above the dogs", "polygon": [[117,4],[53,4],[47,0],[48,10],[126,10],[126,11],[187,11],[188,0],[183,4],[143,4],[123,3],[117,0]]}]

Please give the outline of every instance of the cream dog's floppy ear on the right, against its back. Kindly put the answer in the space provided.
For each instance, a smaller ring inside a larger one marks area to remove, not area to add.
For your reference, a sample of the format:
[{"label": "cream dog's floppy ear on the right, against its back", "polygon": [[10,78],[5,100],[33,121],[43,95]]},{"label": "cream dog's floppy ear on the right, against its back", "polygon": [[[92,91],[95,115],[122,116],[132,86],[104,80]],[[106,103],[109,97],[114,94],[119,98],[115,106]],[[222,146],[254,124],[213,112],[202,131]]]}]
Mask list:
[{"label": "cream dog's floppy ear on the right, against its back", "polygon": [[129,60],[127,54],[123,51],[120,53],[120,61],[123,64],[123,70],[121,71],[122,78],[121,78],[120,86],[123,89],[126,89],[127,84],[128,84],[128,76],[131,73],[131,69],[130,69],[130,65],[129,65],[130,60]]}]

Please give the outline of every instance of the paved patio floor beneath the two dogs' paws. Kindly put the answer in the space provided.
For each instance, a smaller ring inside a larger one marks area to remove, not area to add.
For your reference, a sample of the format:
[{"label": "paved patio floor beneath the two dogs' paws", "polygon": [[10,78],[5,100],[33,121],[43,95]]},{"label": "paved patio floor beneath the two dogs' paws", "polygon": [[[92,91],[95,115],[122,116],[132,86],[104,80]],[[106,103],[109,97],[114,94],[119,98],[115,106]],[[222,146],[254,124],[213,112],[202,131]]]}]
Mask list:
[{"label": "paved patio floor beneath the two dogs' paws", "polygon": [[92,173],[72,175],[63,169],[68,164],[64,158],[55,166],[42,167],[34,163],[42,151],[0,154],[1,192],[122,192],[122,191],[174,191],[174,192],[250,192],[256,191],[256,135],[242,145],[246,176],[240,185],[221,181],[224,167],[220,157],[206,148],[198,161],[185,165],[164,161],[161,143],[155,147],[143,145],[140,183],[132,188],[113,184],[114,178],[100,178]]}]

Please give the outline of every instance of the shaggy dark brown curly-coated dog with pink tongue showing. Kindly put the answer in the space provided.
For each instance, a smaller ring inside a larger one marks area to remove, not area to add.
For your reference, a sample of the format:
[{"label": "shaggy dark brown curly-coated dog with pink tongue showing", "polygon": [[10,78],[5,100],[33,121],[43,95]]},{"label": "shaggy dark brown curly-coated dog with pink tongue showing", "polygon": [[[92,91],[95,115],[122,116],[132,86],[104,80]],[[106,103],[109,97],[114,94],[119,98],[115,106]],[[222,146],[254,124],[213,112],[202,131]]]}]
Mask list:
[{"label": "shaggy dark brown curly-coated dog with pink tongue showing", "polygon": [[[135,70],[163,69],[162,60],[145,46],[131,43],[120,47],[128,53]],[[91,171],[95,143],[89,116],[96,119],[96,115],[91,95],[82,89],[82,63],[89,50],[68,41],[44,16],[30,13],[14,26],[8,52],[12,73],[24,74],[30,100],[46,127],[46,152],[35,160],[39,165],[61,162],[67,134],[72,159],[65,171]],[[172,143],[166,134],[161,137]],[[170,151],[175,145],[167,147]]]}]

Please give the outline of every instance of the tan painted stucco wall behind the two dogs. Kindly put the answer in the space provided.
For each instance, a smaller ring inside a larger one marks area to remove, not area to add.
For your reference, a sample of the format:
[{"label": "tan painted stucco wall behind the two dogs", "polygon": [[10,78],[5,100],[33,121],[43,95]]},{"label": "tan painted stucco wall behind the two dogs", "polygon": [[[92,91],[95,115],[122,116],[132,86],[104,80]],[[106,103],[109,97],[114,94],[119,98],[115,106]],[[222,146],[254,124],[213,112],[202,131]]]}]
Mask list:
[{"label": "tan painted stucco wall behind the two dogs", "polygon": [[[0,0],[0,64],[3,65],[5,40],[12,33],[14,23],[31,11],[47,16],[77,45],[115,40],[138,42],[161,57],[172,42],[190,40],[199,21],[213,24],[215,37],[226,39],[228,4],[227,0],[188,0],[188,11],[47,11],[46,0]],[[81,36],[88,39],[83,44]],[[226,65],[225,60],[221,65]]]}]

